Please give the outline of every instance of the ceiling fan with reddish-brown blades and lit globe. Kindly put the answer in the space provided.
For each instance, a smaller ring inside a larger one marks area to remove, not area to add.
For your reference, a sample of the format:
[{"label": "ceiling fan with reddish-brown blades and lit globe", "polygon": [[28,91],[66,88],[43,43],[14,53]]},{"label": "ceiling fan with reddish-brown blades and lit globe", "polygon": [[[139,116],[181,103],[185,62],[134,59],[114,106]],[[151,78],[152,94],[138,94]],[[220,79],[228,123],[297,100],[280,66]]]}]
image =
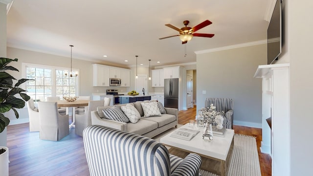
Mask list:
[{"label": "ceiling fan with reddish-brown blades and lit globe", "polygon": [[168,37],[163,37],[163,38],[159,38],[159,40],[162,39],[167,39],[170,37],[175,37],[175,36],[179,36],[180,40],[182,41],[182,44],[186,44],[188,41],[190,41],[192,39],[193,36],[195,37],[213,37],[214,34],[201,34],[201,33],[194,33],[197,30],[212,24],[212,22],[205,20],[204,22],[201,22],[200,24],[194,26],[194,27],[187,27],[187,25],[189,24],[189,21],[183,21],[185,27],[182,28],[177,28],[175,26],[173,26],[172,24],[165,24],[167,27],[170,27],[174,30],[179,31],[179,35],[174,35],[174,36],[168,36]]}]

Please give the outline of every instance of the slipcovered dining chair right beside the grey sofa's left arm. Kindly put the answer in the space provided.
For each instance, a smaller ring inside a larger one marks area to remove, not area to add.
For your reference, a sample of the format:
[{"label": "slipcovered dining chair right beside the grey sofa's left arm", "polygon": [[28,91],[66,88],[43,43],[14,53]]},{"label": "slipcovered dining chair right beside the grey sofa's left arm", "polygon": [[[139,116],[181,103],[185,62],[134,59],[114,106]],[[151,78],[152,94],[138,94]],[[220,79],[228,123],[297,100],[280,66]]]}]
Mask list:
[{"label": "slipcovered dining chair right beside the grey sofa's left arm", "polygon": [[89,101],[85,113],[75,115],[75,133],[77,135],[83,136],[84,129],[91,125],[91,111],[97,110],[97,107],[103,107],[104,104],[105,100]]}]

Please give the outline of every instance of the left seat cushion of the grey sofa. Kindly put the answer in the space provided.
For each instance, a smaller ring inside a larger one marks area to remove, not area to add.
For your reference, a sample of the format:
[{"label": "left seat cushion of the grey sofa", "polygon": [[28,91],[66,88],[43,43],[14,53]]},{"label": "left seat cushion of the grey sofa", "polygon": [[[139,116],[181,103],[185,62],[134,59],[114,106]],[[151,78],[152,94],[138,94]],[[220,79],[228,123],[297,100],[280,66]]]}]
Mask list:
[{"label": "left seat cushion of the grey sofa", "polygon": [[157,129],[157,123],[150,120],[140,119],[137,123],[127,123],[127,131],[135,134],[145,134]]}]

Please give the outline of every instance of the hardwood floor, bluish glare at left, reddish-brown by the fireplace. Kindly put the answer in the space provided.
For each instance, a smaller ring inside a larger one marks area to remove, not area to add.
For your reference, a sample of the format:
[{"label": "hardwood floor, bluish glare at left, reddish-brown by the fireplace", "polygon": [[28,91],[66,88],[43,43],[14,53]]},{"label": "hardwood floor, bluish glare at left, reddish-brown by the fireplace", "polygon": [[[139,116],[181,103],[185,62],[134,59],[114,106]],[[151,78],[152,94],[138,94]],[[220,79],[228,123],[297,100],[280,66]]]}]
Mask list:
[{"label": "hardwood floor, bluish glare at left, reddish-brown by the fireplace", "polygon": [[[179,124],[194,119],[196,108],[179,111]],[[10,176],[89,176],[83,138],[75,129],[61,141],[39,139],[39,132],[28,132],[29,124],[10,125],[7,128]],[[262,130],[234,126],[236,133],[253,135],[257,139],[262,176],[271,176],[271,159],[260,153]]]}]

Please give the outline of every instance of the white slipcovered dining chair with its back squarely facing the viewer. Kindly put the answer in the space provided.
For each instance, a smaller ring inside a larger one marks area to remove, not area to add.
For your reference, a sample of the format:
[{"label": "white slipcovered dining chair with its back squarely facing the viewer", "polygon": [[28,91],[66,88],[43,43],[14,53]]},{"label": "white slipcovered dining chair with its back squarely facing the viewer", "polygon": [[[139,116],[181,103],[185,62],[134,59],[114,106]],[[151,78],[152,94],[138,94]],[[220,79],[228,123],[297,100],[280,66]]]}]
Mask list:
[{"label": "white slipcovered dining chair with its back squarely facing the viewer", "polygon": [[58,141],[69,134],[68,115],[58,112],[57,102],[38,102],[40,139]]}]

